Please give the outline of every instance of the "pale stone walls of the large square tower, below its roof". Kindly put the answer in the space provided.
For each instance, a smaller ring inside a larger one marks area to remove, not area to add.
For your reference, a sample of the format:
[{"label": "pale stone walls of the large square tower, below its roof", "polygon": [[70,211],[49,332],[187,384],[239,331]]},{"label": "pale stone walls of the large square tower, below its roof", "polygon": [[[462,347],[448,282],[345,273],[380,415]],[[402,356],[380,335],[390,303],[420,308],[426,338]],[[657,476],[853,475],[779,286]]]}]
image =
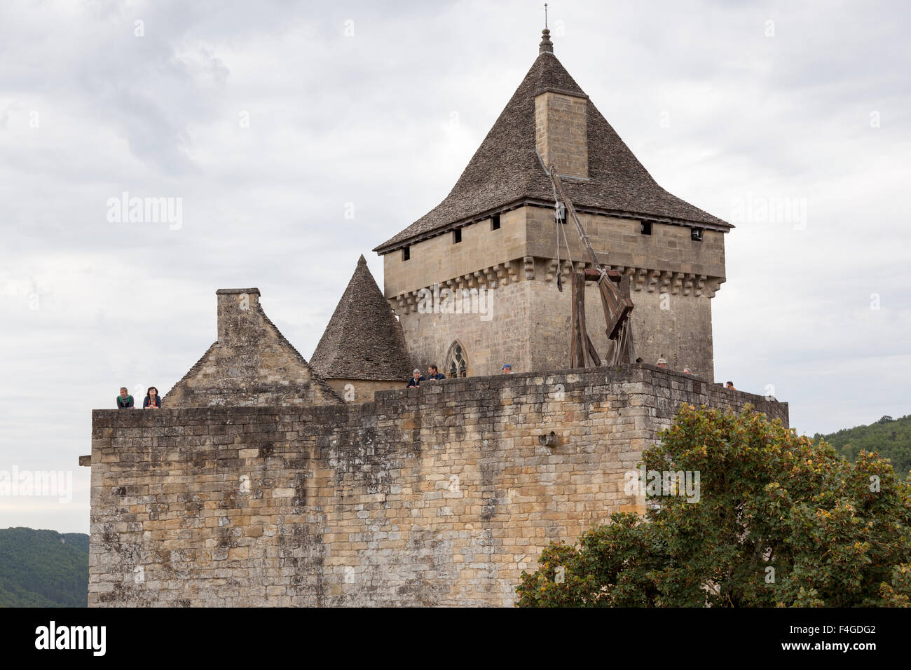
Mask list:
[{"label": "pale stone walls of the large square tower, below its roof", "polygon": [[[637,356],[670,367],[714,375],[711,298],[724,282],[722,232],[705,231],[701,242],[689,228],[653,222],[644,235],[640,221],[581,214],[599,262],[630,275]],[[453,342],[464,345],[469,375],[493,375],[509,362],[517,371],[568,366],[572,313],[570,273],[591,267],[571,223],[564,224],[560,261],[552,209],[520,207],[500,218],[462,229],[462,241],[438,235],[401,253],[384,256],[386,298],[398,314],[410,355],[421,369],[445,363]],[[569,258],[572,259],[570,263]],[[562,278],[563,292],[557,290]],[[427,313],[420,292],[438,284],[453,291],[489,291],[482,314]],[[602,355],[608,351],[604,312],[596,287],[586,291],[589,335]]]}]

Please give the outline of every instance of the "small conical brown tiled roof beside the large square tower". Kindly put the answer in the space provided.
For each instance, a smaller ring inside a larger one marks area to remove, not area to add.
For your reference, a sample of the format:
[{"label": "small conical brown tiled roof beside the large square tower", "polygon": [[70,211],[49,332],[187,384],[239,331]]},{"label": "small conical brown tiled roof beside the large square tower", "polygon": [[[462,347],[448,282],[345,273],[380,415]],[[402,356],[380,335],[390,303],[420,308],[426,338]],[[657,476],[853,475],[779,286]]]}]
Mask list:
[{"label": "small conical brown tiled roof beside the large square tower", "polygon": [[404,380],[411,376],[402,326],[363,254],[310,365],[327,379]]}]

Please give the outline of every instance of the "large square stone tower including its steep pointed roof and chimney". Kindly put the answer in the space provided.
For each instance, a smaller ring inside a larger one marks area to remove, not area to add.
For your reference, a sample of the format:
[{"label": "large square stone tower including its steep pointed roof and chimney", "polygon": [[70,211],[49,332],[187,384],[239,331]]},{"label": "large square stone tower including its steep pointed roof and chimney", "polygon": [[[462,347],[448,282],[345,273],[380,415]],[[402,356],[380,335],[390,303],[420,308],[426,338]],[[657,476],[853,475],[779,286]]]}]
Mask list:
[{"label": "large square stone tower including its steep pointed roof and chimney", "polygon": [[[468,376],[496,374],[505,362],[516,371],[568,367],[568,274],[590,263],[572,222],[555,221],[545,165],[557,167],[599,263],[630,275],[637,356],[663,356],[711,380],[711,297],[724,282],[732,226],[660,188],[554,56],[547,29],[453,190],[374,249],[415,363]],[[477,299],[446,299],[463,289]],[[586,303],[603,356],[593,286]]]}]

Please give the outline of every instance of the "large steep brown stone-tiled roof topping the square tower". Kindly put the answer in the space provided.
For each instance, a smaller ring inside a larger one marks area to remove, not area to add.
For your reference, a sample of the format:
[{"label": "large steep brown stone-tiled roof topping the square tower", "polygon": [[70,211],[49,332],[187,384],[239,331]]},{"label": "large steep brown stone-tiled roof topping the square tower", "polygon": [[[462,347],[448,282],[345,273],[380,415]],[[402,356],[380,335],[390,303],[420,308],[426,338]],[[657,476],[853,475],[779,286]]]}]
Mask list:
[{"label": "large steep brown stone-tiled roof topping the square tower", "polygon": [[[542,43],[543,44],[543,43]],[[553,201],[553,186],[537,157],[535,97],[544,91],[587,97],[552,51],[542,50],[445,200],[374,249],[389,253],[460,222],[517,201]],[[664,191],[617,132],[588,101],[589,180],[565,180],[577,207],[671,222],[731,225]]]}]

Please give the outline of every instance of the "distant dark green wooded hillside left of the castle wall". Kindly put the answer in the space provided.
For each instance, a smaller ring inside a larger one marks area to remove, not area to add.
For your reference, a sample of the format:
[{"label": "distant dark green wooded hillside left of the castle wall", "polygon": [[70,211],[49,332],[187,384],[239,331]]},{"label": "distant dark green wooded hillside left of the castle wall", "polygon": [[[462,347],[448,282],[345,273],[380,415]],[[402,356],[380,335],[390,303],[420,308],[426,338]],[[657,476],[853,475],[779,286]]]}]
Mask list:
[{"label": "distant dark green wooded hillside left of the castle wall", "polygon": [[0,607],[86,607],[85,533],[0,530]]}]

